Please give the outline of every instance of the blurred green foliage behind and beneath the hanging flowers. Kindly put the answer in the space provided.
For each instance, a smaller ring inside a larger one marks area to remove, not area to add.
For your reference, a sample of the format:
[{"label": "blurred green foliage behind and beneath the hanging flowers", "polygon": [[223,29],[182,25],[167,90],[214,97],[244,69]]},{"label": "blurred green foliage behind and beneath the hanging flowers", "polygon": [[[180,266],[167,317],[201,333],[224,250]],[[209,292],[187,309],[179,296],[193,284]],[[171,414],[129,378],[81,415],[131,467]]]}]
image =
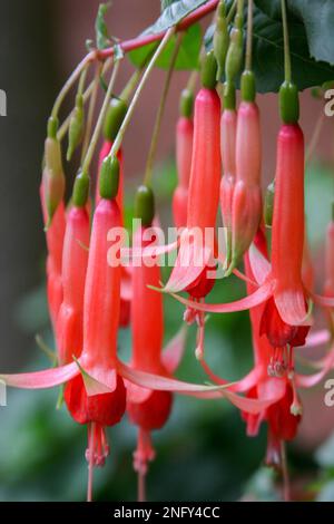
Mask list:
[{"label": "blurred green foliage behind and beneath the hanging flowers", "polygon": [[[168,215],[170,194],[176,181],[175,166],[157,168],[155,178],[158,208],[163,223]],[[327,174],[326,174],[327,173]],[[308,220],[316,220],[321,234],[327,216],[328,172],[318,165],[307,175]],[[316,184],[314,187],[313,184]],[[320,186],[322,187],[320,190]],[[126,222],[131,220],[134,186],[126,200]],[[312,197],[311,197],[312,194]],[[165,273],[165,271],[164,271]],[[164,274],[164,280],[166,279]],[[232,276],[218,281],[209,301],[228,301],[245,293],[244,284]],[[21,329],[41,333],[49,346],[52,337],[48,326],[45,289],[24,297],[16,310]],[[166,341],[178,330],[183,307],[165,297]],[[207,322],[206,352],[209,365],[226,379],[237,379],[252,366],[249,320],[247,312],[212,316]],[[129,330],[121,330],[120,356],[130,352]],[[45,355],[31,351],[29,369],[49,365]],[[180,379],[204,381],[205,375],[194,357],[195,328],[189,329],[185,359],[177,372]],[[66,408],[57,411],[57,389],[50,391],[8,392],[8,407],[1,410],[0,431],[0,501],[82,501],[86,497],[87,465],[85,449],[87,431],[75,424]],[[257,438],[245,435],[245,425],[236,408],[226,401],[204,401],[177,397],[167,426],[154,435],[157,458],[151,464],[147,491],[151,501],[276,501],[281,497],[275,472],[263,467],[266,430]],[[131,454],[136,446],[136,429],[125,417],[109,429],[111,455],[105,468],[95,473],[95,497],[104,501],[136,499],[136,475]],[[288,446],[293,477],[317,478],[318,499],[334,498],[334,439],[316,453]],[[317,470],[320,470],[317,476]]]}]

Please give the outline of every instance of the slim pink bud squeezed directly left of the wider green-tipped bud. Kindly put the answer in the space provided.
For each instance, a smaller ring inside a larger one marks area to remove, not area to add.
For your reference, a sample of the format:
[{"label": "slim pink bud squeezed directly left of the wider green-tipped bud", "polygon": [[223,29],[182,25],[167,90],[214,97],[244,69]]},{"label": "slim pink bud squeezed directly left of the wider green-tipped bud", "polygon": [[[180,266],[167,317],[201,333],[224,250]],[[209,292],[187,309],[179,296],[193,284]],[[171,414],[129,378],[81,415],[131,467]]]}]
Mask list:
[{"label": "slim pink bud squeezed directly left of the wider green-tipped bud", "polygon": [[220,208],[223,224],[226,227],[226,265],[232,256],[232,203],[236,179],[236,129],[237,111],[235,109],[235,88],[230,85],[228,96],[224,97],[224,110],[220,122],[220,152],[223,164],[223,178],[220,182]]}]

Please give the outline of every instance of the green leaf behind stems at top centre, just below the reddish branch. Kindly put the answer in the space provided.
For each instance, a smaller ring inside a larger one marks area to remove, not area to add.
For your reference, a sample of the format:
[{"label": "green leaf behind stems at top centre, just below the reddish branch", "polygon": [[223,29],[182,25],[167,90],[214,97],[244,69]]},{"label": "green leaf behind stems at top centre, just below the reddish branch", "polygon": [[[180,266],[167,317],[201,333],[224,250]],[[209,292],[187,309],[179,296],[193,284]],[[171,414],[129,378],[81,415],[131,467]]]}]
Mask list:
[{"label": "green leaf behind stems at top centre, just below the reddish branch", "polygon": [[[168,69],[170,57],[173,55],[176,38],[174,37],[167,43],[165,50],[158,58],[156,66],[161,69]],[[198,68],[199,51],[202,46],[202,30],[198,23],[189,27],[184,35],[181,46],[175,64],[176,70],[191,70]],[[137,67],[141,67],[146,58],[154,51],[156,43],[150,43],[140,49],[135,49],[128,54],[132,64]]]}]

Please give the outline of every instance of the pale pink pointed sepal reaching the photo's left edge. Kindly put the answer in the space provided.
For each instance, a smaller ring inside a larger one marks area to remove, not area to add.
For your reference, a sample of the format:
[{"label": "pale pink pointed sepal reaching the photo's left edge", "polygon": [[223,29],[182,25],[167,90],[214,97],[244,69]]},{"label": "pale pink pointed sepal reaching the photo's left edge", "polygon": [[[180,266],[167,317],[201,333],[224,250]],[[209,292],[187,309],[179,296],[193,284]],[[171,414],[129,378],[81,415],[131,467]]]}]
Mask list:
[{"label": "pale pink pointed sepal reaching the photo's left edge", "polygon": [[0,375],[0,380],[12,388],[48,389],[65,384],[79,373],[76,362],[60,368],[46,369],[31,373]]}]

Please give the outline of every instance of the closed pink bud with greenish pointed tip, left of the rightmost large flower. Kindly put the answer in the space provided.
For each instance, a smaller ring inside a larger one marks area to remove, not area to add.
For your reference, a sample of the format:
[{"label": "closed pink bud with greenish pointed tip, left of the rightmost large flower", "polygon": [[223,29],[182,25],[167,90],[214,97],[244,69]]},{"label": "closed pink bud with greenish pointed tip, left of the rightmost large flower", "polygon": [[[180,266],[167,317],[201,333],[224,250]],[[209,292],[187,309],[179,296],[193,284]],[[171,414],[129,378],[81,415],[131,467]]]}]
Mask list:
[{"label": "closed pink bud with greenish pointed tip, left of the rightmost large flower", "polygon": [[262,138],[253,84],[253,72],[245,71],[242,77],[242,103],[237,115],[236,181],[232,201],[232,262],[227,274],[249,248],[262,219]]}]

